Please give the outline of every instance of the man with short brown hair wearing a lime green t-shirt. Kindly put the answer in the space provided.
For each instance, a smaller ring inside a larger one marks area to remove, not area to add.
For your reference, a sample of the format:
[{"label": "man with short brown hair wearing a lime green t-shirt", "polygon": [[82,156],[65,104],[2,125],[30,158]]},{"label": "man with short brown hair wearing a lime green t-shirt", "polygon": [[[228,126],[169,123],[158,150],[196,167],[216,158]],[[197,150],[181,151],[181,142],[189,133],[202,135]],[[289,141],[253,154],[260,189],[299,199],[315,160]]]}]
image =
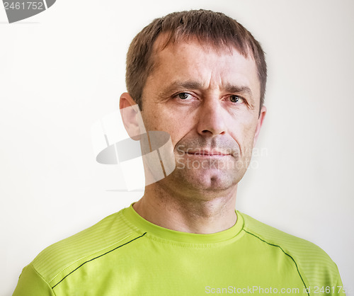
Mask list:
[{"label": "man with short brown hair wearing a lime green t-shirt", "polygon": [[171,13],[144,28],[127,54],[122,119],[135,140],[168,132],[176,169],[137,203],[42,251],[14,295],[344,295],[318,246],[235,211],[265,80],[261,45],[222,13]]}]

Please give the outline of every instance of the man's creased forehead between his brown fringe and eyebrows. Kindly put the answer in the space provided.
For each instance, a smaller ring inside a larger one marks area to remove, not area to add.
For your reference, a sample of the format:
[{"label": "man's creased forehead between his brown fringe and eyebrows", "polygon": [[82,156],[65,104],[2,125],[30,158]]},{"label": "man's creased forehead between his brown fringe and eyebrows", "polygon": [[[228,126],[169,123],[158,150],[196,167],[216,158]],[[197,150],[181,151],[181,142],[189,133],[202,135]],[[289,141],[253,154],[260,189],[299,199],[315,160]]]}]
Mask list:
[{"label": "man's creased forehead between his brown fringe and eyebrows", "polygon": [[258,71],[251,55],[244,57],[234,47],[215,47],[196,38],[165,45],[166,36],[159,36],[154,44],[154,68],[147,84],[156,80],[163,87],[172,81],[192,79],[209,88],[241,85],[248,86],[259,100]]}]

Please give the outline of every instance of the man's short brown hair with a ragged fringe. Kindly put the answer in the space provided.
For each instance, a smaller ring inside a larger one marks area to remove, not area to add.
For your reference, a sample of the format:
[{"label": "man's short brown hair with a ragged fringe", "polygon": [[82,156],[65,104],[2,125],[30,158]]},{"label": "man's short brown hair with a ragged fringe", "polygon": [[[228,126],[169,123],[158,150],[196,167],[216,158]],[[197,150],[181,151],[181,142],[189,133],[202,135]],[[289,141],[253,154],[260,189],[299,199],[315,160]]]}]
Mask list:
[{"label": "man's short brown hair with a ragged fringe", "polygon": [[125,81],[127,91],[140,110],[142,110],[142,92],[147,77],[154,69],[154,42],[161,33],[167,35],[164,47],[194,37],[217,49],[235,47],[244,57],[249,57],[251,54],[258,69],[258,79],[261,84],[260,105],[263,106],[267,65],[261,45],[243,25],[233,18],[225,16],[224,13],[200,9],[170,13],[162,18],[156,18],[132,40],[127,52]]}]

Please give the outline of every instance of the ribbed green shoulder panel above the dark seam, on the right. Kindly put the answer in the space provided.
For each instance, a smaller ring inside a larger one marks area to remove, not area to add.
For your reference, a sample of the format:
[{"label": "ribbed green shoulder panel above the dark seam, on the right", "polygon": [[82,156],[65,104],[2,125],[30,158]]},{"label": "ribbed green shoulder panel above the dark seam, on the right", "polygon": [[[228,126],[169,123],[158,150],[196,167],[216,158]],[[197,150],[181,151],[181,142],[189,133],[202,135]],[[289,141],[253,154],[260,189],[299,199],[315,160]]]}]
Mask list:
[{"label": "ribbed green shoulder panel above the dark seam, on the right", "polygon": [[292,258],[299,273],[310,286],[335,285],[338,268],[326,252],[316,244],[275,229],[267,224],[240,213],[244,218],[244,232],[263,241],[263,244],[280,248]]}]

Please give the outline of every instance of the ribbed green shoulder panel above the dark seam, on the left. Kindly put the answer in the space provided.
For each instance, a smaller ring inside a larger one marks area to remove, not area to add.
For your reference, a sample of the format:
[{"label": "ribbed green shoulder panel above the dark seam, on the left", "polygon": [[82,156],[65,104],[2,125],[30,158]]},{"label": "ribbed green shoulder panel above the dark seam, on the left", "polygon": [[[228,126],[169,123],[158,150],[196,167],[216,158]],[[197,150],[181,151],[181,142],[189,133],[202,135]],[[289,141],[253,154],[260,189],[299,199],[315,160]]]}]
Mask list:
[{"label": "ribbed green shoulder panel above the dark seam, on the left", "polygon": [[35,257],[31,265],[47,283],[55,283],[60,273],[71,271],[81,262],[101,256],[138,237],[139,233],[125,221],[122,215],[124,210],[48,246]]}]

